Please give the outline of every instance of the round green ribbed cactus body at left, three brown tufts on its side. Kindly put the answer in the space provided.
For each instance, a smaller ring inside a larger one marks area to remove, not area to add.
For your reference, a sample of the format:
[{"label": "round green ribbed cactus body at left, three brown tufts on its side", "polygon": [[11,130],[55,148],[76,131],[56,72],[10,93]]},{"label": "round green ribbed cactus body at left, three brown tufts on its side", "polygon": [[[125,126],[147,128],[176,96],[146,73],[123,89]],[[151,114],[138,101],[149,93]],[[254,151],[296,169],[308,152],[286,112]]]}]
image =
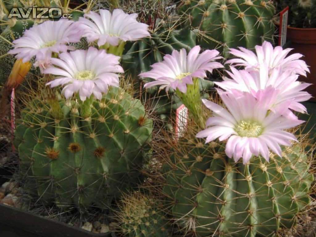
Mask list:
[{"label": "round green ribbed cactus body at left, three brown tufts on its side", "polygon": [[15,132],[27,188],[61,208],[106,207],[138,181],[152,121],[122,89],[88,107],[42,93],[27,103]]}]

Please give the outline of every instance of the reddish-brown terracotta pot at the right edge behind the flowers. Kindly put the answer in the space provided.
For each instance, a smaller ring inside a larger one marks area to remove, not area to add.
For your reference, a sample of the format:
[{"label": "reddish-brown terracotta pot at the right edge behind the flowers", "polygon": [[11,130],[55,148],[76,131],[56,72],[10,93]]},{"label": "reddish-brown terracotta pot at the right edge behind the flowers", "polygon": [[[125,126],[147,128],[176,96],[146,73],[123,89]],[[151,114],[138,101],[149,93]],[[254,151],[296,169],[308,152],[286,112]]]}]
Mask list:
[{"label": "reddish-brown terracotta pot at the right edge behind the flowers", "polygon": [[307,91],[313,95],[311,100],[316,101],[316,28],[295,28],[288,27],[287,40],[291,41],[292,53],[301,53],[311,73],[307,74],[307,78],[300,77],[300,81],[312,83]]}]

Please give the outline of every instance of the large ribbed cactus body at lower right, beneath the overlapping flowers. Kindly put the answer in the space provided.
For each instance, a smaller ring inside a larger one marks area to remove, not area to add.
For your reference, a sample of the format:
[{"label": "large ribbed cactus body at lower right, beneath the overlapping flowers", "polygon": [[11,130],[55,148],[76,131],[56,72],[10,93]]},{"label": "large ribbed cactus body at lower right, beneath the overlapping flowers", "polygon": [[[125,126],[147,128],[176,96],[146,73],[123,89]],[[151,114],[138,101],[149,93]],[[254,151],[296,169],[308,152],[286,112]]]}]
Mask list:
[{"label": "large ribbed cactus body at lower right, beneath the overlapping flowers", "polygon": [[270,162],[234,163],[220,144],[179,142],[163,170],[163,193],[181,228],[197,236],[275,236],[309,203],[313,175],[301,144]]}]

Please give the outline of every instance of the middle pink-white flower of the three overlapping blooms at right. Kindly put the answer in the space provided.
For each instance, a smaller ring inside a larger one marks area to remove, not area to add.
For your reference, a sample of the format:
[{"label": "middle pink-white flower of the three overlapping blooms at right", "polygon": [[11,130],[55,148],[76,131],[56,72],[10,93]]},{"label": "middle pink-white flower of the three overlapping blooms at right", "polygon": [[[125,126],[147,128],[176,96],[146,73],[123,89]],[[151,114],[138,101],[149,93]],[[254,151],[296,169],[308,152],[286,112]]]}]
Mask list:
[{"label": "middle pink-white flower of the three overlapping blooms at right", "polygon": [[[275,112],[280,105],[289,101],[289,109],[297,112],[306,113],[306,108],[300,102],[309,100],[312,96],[306,91],[309,83],[297,81],[298,75],[292,73],[291,70],[282,72],[281,67],[269,70],[266,64],[260,65],[258,70],[237,70],[231,67],[231,71],[227,71],[231,78],[223,77],[223,82],[215,82],[219,87],[231,91],[239,90],[242,92],[250,92],[254,96],[260,96],[261,90],[270,90],[274,88],[275,92],[270,97],[270,110]],[[284,115],[296,118],[289,110],[284,111]]]}]

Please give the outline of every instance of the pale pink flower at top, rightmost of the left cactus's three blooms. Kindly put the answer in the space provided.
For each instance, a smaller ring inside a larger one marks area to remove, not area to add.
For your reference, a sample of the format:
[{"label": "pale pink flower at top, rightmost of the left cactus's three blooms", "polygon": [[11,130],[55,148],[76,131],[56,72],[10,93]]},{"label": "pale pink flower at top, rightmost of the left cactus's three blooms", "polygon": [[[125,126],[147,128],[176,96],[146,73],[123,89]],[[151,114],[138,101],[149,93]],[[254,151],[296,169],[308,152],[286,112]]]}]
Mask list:
[{"label": "pale pink flower at top, rightmost of the left cactus's three blooms", "polygon": [[112,14],[108,10],[100,9],[100,15],[90,11],[84,17],[79,18],[83,36],[87,37],[88,42],[98,40],[98,46],[106,43],[117,46],[121,40],[139,40],[150,35],[148,25],[136,20],[137,14],[129,15],[120,9],[114,9]]}]

